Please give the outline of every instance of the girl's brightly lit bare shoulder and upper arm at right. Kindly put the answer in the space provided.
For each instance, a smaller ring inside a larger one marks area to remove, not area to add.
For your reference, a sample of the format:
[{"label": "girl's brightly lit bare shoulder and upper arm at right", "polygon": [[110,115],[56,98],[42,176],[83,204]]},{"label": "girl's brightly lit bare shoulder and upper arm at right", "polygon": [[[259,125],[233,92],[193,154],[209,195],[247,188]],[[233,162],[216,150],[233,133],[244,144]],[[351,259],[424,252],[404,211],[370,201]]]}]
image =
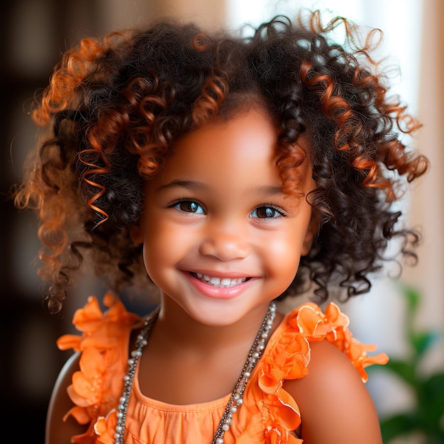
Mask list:
[{"label": "girl's brightly lit bare shoulder and upper arm at right", "polygon": [[327,340],[311,343],[308,369],[284,384],[301,411],[304,444],[382,444],[373,401],[348,358]]}]

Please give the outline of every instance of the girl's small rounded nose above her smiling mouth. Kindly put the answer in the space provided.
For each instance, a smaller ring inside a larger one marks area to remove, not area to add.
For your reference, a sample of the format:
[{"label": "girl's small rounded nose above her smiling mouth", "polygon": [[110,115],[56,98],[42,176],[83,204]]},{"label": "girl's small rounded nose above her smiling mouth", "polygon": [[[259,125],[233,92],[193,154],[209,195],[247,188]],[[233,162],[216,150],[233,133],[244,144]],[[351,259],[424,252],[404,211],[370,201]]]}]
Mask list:
[{"label": "girl's small rounded nose above her smiling mouth", "polygon": [[201,240],[199,252],[228,261],[243,259],[250,252],[248,235],[240,226],[223,221],[212,221]]}]

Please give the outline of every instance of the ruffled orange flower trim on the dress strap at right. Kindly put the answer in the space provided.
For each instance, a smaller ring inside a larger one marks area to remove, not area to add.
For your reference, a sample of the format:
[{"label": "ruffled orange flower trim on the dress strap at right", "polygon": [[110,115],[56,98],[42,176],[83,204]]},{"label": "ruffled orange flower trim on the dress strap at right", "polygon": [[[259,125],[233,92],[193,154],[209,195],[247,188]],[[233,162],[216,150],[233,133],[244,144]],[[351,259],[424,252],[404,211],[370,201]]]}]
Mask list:
[{"label": "ruffled orange flower trim on the dress strap at right", "polygon": [[[252,421],[236,444],[248,444],[252,436],[264,437],[261,444],[296,444],[303,441],[293,435],[301,424],[299,407],[292,396],[283,389],[285,379],[297,379],[308,374],[310,343],[326,339],[341,350],[356,367],[363,382],[366,382],[365,367],[385,364],[385,353],[369,356],[376,345],[360,343],[348,330],[349,319],[339,307],[328,304],[325,313],[316,304],[304,304],[289,313],[284,321],[284,331],[270,352],[258,364],[258,385],[263,399],[257,401],[262,421]],[[271,344],[270,344],[271,345]]]}]

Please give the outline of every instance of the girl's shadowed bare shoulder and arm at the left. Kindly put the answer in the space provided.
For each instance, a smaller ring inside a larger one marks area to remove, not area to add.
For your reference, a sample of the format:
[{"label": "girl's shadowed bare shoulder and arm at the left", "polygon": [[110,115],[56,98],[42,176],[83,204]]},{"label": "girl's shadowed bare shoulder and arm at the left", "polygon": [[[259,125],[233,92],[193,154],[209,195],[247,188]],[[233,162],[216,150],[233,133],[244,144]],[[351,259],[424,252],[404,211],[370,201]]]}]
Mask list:
[{"label": "girl's shadowed bare shoulder and arm at the left", "polygon": [[67,387],[72,383],[72,374],[79,370],[79,359],[80,355],[76,353],[65,362],[52,389],[46,416],[45,444],[69,444],[72,435],[86,430],[71,416],[63,421],[63,416],[74,406],[67,394]]}]

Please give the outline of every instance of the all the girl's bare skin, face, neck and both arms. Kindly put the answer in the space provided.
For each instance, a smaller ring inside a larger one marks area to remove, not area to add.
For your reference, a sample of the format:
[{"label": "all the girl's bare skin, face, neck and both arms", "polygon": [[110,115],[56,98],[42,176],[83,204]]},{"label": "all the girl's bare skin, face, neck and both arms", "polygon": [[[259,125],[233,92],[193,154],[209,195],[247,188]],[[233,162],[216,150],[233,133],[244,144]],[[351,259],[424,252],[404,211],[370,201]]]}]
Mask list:
[{"label": "all the girl's bare skin, face, neck and both arms", "polygon": [[[146,396],[195,404],[230,393],[267,306],[309,252],[311,206],[282,193],[276,143],[277,128],[260,107],[239,111],[179,138],[162,172],[146,182],[145,211],[131,235],[143,243],[162,302],[139,363]],[[309,156],[300,168],[306,195],[314,187]],[[274,328],[280,321],[278,313]],[[61,426],[77,367],[74,357],[57,381],[46,444],[68,443],[82,430],[71,420]],[[309,375],[285,389],[299,404],[305,444],[382,443],[367,389],[330,343],[313,343]]]}]

